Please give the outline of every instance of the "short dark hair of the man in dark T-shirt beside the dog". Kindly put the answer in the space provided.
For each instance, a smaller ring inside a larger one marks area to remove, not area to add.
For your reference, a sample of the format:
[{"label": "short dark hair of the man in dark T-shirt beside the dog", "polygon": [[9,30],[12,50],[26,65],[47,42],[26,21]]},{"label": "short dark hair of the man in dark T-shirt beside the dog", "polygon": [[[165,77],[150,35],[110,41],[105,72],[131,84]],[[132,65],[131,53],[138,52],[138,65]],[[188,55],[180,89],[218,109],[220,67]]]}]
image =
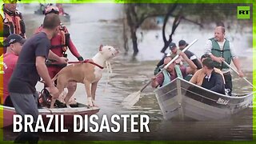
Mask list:
[{"label": "short dark hair of the man in dark T-shirt beside the dog", "polygon": [[45,29],[53,30],[54,28],[59,26],[60,23],[61,21],[58,17],[58,14],[50,13],[50,14],[46,14],[42,23],[42,27]]}]

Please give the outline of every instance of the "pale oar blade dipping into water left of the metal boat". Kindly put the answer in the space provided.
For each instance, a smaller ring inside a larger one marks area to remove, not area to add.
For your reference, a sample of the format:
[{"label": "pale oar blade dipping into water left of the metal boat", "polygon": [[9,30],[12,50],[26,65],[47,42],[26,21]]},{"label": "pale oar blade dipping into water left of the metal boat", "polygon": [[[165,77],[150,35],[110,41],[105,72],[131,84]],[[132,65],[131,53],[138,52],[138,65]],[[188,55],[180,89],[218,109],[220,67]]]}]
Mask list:
[{"label": "pale oar blade dipping into water left of the metal boat", "polygon": [[136,102],[138,102],[139,98],[141,95],[141,91],[137,91],[133,94],[128,95],[123,101],[122,101],[122,106],[130,109],[132,106],[135,105]]}]

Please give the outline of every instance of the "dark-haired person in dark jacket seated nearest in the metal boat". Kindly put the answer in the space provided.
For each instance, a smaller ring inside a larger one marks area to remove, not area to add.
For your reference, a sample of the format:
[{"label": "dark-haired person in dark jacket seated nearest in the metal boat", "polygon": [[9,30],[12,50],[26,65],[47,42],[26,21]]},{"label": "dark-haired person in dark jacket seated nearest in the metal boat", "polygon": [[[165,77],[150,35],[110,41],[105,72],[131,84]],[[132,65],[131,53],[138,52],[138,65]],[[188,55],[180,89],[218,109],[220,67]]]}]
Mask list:
[{"label": "dark-haired person in dark jacket seated nearest in the metal boat", "polygon": [[206,74],[202,80],[202,87],[219,94],[225,94],[222,75],[215,72],[214,61],[211,58],[202,61],[202,71]]}]

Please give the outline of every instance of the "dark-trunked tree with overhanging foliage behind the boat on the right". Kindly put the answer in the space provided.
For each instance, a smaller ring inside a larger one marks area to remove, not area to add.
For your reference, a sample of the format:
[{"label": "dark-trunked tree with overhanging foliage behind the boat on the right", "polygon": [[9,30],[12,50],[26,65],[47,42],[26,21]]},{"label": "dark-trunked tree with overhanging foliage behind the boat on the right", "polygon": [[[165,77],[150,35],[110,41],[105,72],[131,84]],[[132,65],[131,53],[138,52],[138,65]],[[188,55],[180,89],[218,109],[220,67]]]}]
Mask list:
[{"label": "dark-trunked tree with overhanging foliage behind the boat on the right", "polygon": [[[216,25],[224,25],[224,22],[227,20],[230,20],[230,22],[238,22],[237,6],[239,6],[239,4],[126,4],[126,18],[130,27],[130,36],[133,43],[134,55],[138,54],[136,31],[146,18],[165,16],[162,26],[162,38],[164,45],[161,50],[161,52],[164,53],[170,42],[172,42],[172,36],[178,27],[178,24],[182,20],[192,22],[201,28],[212,22],[215,22]],[[174,17],[174,22],[169,39],[167,40],[166,23],[170,17]],[[247,22],[251,25],[252,18],[242,22]],[[230,26],[226,27],[227,29],[230,28]]]}]

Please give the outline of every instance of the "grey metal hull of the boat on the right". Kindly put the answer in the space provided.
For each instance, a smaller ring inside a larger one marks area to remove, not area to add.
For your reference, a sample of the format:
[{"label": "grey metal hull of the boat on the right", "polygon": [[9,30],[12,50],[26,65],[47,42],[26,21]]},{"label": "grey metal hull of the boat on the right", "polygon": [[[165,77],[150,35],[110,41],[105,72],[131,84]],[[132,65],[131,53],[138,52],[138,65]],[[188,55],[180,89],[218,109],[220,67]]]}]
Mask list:
[{"label": "grey metal hull of the boat on the right", "polygon": [[226,96],[181,78],[154,90],[165,119],[194,119],[198,121],[230,117],[246,109],[254,93],[243,96]]}]

